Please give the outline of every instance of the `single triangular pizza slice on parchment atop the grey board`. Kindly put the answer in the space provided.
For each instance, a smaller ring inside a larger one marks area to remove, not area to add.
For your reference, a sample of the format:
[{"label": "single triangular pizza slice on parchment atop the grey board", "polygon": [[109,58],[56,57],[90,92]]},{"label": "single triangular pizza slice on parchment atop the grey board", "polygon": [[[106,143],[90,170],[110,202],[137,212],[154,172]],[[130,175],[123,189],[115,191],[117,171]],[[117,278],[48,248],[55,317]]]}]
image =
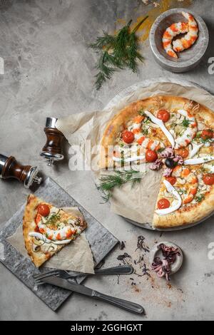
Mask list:
[{"label": "single triangular pizza slice on parchment atop the grey board", "polygon": [[26,250],[36,267],[51,258],[86,228],[82,217],[29,195],[23,217]]}]

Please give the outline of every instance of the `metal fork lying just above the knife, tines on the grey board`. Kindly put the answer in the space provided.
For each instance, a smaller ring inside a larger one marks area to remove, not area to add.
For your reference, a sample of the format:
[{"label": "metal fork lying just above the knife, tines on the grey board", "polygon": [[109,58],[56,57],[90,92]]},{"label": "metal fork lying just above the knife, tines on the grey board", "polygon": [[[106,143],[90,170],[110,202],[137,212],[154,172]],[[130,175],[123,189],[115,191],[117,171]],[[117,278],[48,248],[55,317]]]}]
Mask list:
[{"label": "metal fork lying just above the knife, tines on the grey board", "polygon": [[[118,267],[110,267],[107,269],[95,269],[94,274],[132,274],[133,273],[133,267],[129,264],[127,265],[120,265]],[[66,270],[60,270],[55,269],[51,270],[49,272],[45,272],[43,274],[34,274],[33,278],[36,281],[39,281],[39,279],[43,279],[46,277],[61,277],[63,279],[68,278],[75,278],[75,277],[85,277],[90,274],[82,273],[82,272],[76,272],[76,271],[66,271]],[[91,274],[93,275],[93,274]]]}]

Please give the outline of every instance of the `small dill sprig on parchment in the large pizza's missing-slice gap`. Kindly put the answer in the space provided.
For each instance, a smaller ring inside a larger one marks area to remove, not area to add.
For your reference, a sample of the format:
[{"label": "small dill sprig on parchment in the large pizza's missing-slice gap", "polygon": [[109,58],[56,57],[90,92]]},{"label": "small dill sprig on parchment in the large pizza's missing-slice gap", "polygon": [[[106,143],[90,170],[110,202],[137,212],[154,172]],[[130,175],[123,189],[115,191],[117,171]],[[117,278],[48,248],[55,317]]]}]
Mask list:
[{"label": "small dill sprig on parchment in the large pizza's missing-slice gap", "polygon": [[116,170],[113,175],[101,175],[99,178],[100,184],[97,185],[97,189],[101,190],[103,193],[102,198],[104,202],[108,202],[108,200],[112,196],[112,191],[114,187],[121,187],[126,182],[131,182],[132,187],[136,185],[136,183],[141,181],[143,177],[142,172],[136,170]]}]

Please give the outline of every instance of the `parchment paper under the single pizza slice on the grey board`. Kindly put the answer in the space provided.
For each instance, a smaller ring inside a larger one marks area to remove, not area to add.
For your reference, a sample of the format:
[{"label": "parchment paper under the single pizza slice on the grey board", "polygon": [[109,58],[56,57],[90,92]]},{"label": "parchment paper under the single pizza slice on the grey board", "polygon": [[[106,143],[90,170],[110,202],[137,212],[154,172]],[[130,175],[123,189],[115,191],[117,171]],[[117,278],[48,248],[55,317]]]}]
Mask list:
[{"label": "parchment paper under the single pizza slice on the grey board", "polygon": [[[63,210],[81,217],[83,216],[77,207],[63,207]],[[22,225],[6,241],[15,247],[24,257],[29,258],[24,246]],[[60,252],[46,261],[42,267],[93,274],[93,255],[86,239],[86,234],[82,232],[77,239],[66,245],[66,247],[63,247]]]}]

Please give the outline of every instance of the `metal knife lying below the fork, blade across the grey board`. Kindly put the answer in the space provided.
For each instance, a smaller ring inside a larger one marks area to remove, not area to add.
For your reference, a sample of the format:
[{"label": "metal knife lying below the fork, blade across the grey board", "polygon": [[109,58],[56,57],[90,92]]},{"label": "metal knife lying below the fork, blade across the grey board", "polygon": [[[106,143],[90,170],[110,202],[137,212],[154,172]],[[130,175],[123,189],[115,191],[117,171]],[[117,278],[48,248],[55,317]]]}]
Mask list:
[{"label": "metal knife lying below the fork, blade across the grey board", "polygon": [[47,277],[41,279],[42,282],[52,284],[58,287],[62,287],[63,289],[68,289],[69,291],[76,292],[78,294],[84,294],[93,299],[98,299],[102,301],[106,301],[109,304],[113,304],[114,306],[118,306],[121,309],[126,309],[126,311],[131,311],[136,314],[143,314],[144,309],[141,305],[135,304],[134,302],[118,299],[115,297],[108,296],[106,294],[95,291],[94,289],[90,289],[81,284],[76,284],[72,281],[72,279],[62,279],[59,277]]}]

